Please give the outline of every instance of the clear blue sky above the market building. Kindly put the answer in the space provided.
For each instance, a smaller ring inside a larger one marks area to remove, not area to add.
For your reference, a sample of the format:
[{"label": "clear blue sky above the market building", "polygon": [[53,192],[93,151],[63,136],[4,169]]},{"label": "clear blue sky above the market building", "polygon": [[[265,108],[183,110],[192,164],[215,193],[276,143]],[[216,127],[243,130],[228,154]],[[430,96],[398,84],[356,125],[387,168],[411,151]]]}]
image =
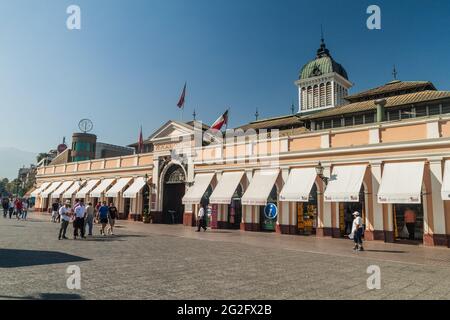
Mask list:
[{"label": "clear blue sky above the market building", "polygon": [[[66,8],[82,30],[66,29]],[[366,8],[382,9],[382,30]],[[185,118],[230,126],[287,114],[293,82],[320,42],[320,25],[352,92],[392,79],[450,90],[450,1],[1,0],[0,147],[55,148],[91,118],[102,142],[137,140],[169,119],[188,82]]]}]

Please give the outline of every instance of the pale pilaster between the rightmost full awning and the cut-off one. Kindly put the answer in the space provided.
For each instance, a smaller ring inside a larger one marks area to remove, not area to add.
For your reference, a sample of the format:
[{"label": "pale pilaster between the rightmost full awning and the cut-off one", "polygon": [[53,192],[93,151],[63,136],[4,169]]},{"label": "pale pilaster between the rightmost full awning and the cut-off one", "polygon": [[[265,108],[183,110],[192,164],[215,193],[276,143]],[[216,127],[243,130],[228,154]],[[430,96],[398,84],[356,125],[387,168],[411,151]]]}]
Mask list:
[{"label": "pale pilaster between the rightmost full awning and the cut-off one", "polygon": [[442,158],[431,158],[430,177],[431,177],[431,197],[433,199],[433,234],[445,234],[445,213],[444,201],[441,196],[442,189]]}]

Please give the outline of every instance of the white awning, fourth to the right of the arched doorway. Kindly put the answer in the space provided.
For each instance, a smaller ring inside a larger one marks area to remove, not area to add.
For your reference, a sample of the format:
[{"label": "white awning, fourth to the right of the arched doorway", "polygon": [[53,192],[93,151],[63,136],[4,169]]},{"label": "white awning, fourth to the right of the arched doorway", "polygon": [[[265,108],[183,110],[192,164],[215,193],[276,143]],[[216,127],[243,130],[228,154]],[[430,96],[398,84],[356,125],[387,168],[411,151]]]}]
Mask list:
[{"label": "white awning, fourth to the right of the arched doorway", "polygon": [[281,190],[280,201],[308,202],[316,177],[315,168],[292,169]]}]

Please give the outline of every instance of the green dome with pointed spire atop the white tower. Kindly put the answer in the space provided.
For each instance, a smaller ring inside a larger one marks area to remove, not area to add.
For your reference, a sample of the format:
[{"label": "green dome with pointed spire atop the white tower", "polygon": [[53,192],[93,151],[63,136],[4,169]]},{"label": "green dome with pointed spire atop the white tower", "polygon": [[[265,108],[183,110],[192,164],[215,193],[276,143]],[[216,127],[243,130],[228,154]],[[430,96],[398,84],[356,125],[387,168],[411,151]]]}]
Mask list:
[{"label": "green dome with pointed spire atop the white tower", "polygon": [[316,59],[308,62],[302,68],[302,71],[300,71],[300,80],[317,77],[331,72],[335,72],[348,80],[347,71],[345,71],[339,63],[333,60],[330,52],[325,47],[325,43],[322,41],[320,49],[317,50]]}]

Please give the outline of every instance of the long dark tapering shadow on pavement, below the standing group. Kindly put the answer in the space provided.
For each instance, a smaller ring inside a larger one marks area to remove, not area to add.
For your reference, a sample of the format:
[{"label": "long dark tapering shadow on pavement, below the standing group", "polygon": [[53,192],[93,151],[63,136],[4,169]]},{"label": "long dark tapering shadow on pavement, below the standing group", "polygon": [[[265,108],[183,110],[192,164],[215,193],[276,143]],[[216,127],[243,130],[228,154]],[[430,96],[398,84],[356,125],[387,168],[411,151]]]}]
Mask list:
[{"label": "long dark tapering shadow on pavement, below the standing group", "polygon": [[88,260],[57,251],[0,249],[0,268],[30,267]]}]

